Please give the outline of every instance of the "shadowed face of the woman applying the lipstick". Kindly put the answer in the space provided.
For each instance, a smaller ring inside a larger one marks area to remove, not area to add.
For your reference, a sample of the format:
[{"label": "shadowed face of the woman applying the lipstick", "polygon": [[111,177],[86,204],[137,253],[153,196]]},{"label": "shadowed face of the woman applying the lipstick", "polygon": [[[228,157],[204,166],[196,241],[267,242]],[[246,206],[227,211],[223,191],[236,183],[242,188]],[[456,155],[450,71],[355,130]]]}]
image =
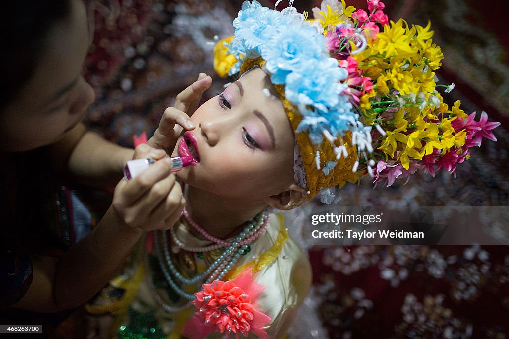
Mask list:
[{"label": "shadowed face of the woman applying the lipstick", "polygon": [[0,113],[0,150],[51,144],[83,118],[95,100],[81,76],[90,39],[86,9],[73,0],[68,17],[48,32],[34,76]]}]

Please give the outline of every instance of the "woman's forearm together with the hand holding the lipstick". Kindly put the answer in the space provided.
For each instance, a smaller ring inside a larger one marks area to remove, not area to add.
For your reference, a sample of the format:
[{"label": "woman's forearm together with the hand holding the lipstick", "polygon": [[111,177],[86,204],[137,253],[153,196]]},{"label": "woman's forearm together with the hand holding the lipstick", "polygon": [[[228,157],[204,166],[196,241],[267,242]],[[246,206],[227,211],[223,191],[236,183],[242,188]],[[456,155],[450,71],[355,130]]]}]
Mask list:
[{"label": "woman's forearm together with the hand holding the lipstick", "polygon": [[[138,146],[136,158],[146,158],[151,149]],[[120,180],[111,207],[87,237],[59,257],[32,258],[32,284],[14,307],[56,312],[86,302],[117,273],[142,233],[172,227],[184,204],[169,158]]]}]

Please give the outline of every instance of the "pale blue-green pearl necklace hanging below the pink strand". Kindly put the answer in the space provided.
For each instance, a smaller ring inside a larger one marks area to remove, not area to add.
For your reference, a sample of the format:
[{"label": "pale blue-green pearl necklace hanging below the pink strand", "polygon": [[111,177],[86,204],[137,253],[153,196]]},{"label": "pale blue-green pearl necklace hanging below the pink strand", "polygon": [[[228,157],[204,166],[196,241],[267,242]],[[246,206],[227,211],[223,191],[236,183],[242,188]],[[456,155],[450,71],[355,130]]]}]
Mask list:
[{"label": "pale blue-green pearl necklace hanging below the pink strand", "polygon": [[[256,226],[254,225],[254,222],[257,221]],[[239,235],[230,243],[230,245],[224,250],[224,252],[201,274],[195,275],[191,279],[185,278],[175,267],[173,264],[173,261],[171,260],[171,257],[169,256],[168,251],[168,244],[165,240],[165,231],[161,231],[163,235],[163,251],[161,251],[160,245],[159,245],[159,239],[158,239],[158,232],[154,231],[154,247],[157,253],[157,258],[159,261],[159,266],[161,268],[161,271],[164,275],[164,278],[166,282],[169,284],[169,286],[180,296],[186,298],[186,299],[194,299],[193,294],[189,294],[182,290],[182,288],[174,281],[172,278],[173,276],[180,281],[184,285],[193,285],[200,281],[203,281],[205,277],[210,274],[209,278],[207,279],[206,283],[211,283],[214,280],[221,279],[224,275],[228,273],[228,271],[233,267],[235,262],[240,258],[242,254],[244,254],[244,250],[247,248],[247,244],[245,240],[247,238],[253,239],[253,236],[255,234],[258,234],[257,237],[262,233],[260,232],[261,229],[265,230],[267,228],[267,225],[270,220],[270,215],[267,211],[264,211],[260,214],[258,214],[256,217],[254,217],[248,225],[243,229],[242,232],[239,233]],[[252,241],[252,240],[251,240]],[[164,254],[163,254],[164,252]],[[168,266],[169,270],[171,270],[171,273],[168,272],[166,269],[166,265]],[[159,300],[158,300],[159,301]],[[162,300],[160,300],[162,301]]]}]

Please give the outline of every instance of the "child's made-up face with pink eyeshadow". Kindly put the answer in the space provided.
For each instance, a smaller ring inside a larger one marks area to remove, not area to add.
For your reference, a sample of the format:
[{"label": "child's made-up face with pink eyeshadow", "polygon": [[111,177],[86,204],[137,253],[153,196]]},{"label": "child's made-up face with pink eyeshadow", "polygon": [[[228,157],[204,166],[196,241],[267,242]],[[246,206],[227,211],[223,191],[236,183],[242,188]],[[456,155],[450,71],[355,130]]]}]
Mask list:
[{"label": "child's made-up face with pink eyeshadow", "polygon": [[[271,95],[267,90],[270,90]],[[293,180],[294,134],[265,73],[253,69],[192,115],[200,163],[178,172],[190,186],[253,201],[285,191]],[[190,136],[191,134],[191,136]]]}]

